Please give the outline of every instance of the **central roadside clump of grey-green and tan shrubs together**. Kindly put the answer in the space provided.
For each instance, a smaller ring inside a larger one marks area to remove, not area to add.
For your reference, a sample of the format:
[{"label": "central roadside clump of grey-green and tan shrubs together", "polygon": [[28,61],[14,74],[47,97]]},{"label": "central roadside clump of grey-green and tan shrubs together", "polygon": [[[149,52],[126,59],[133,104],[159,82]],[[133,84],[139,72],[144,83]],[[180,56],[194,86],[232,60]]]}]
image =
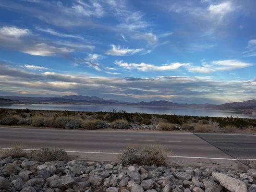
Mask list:
[{"label": "central roadside clump of grey-green and tan shrubs together", "polygon": [[119,156],[120,163],[124,166],[137,165],[166,165],[167,156],[171,151],[159,144],[146,145],[144,147],[128,147]]}]

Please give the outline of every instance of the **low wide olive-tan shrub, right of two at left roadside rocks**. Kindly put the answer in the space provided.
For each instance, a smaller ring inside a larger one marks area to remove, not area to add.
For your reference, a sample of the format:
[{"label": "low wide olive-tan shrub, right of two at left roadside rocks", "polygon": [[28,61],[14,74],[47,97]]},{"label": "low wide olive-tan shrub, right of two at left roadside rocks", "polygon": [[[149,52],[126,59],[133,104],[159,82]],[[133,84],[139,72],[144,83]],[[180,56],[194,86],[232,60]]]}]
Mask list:
[{"label": "low wide olive-tan shrub, right of two at left roadside rocks", "polygon": [[68,155],[63,149],[42,148],[42,150],[32,150],[29,158],[33,161],[63,161]]}]

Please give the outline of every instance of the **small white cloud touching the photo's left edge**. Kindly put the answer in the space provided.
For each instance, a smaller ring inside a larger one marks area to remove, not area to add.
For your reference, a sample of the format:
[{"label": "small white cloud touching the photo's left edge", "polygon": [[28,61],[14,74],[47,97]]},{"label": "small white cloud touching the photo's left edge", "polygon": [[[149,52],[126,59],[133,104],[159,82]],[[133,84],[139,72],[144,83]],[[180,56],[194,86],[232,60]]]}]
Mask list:
[{"label": "small white cloud touching the photo's left edge", "polygon": [[29,34],[31,34],[31,32],[28,29],[22,29],[18,27],[8,27],[8,26],[4,26],[0,28],[0,35],[2,36],[19,38],[21,36],[25,36]]}]

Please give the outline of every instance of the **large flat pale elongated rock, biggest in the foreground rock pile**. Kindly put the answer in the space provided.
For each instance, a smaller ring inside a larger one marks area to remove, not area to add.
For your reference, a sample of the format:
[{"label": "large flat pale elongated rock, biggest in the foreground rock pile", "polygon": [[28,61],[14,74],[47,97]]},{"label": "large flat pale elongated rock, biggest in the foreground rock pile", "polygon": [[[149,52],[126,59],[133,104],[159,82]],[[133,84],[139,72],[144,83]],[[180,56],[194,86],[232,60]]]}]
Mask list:
[{"label": "large flat pale elongated rock, biggest in the foreground rock pile", "polygon": [[231,192],[247,192],[247,186],[241,180],[234,179],[222,173],[213,172],[212,176],[219,181],[219,183]]}]

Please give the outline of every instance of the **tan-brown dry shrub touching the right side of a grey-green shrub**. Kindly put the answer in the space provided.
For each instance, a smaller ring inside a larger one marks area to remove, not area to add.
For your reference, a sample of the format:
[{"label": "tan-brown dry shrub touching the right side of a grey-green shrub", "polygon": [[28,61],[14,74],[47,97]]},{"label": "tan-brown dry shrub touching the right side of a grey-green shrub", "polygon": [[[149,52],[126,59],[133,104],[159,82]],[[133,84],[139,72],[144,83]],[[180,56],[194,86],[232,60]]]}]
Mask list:
[{"label": "tan-brown dry shrub touching the right side of a grey-green shrub", "polygon": [[159,144],[151,144],[142,148],[139,152],[136,164],[138,165],[166,165],[167,156],[171,151]]}]

